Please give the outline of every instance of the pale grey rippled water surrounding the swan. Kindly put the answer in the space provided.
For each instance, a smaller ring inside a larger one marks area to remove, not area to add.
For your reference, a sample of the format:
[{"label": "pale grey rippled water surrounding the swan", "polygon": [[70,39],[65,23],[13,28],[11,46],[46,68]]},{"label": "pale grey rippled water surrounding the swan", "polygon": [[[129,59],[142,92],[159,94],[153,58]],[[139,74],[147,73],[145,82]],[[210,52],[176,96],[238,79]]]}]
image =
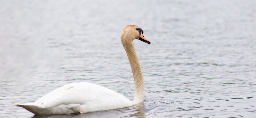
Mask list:
[{"label": "pale grey rippled water surrounding the swan", "polygon": [[[256,2],[253,0],[0,1],[1,117],[256,117]],[[133,99],[120,32],[135,40],[143,104],[80,115],[34,116],[31,103],[72,82]]]}]

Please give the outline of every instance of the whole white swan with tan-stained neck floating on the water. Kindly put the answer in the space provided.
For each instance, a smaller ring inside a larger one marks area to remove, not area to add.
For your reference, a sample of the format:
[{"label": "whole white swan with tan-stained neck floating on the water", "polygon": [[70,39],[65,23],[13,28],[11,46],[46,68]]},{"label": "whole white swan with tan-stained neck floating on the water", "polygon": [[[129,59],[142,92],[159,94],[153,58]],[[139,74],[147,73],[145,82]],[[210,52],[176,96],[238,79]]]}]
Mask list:
[{"label": "whole white swan with tan-stained neck floating on the water", "polygon": [[138,26],[128,25],[121,31],[121,42],[127,53],[134,78],[135,94],[133,101],[111,89],[92,83],[80,82],[59,87],[39,98],[34,103],[13,104],[25,108],[35,115],[51,115],[81,114],[125,108],[142,103],[145,93],[144,79],[133,44],[134,39],[150,44],[150,41],[143,36],[143,30]]}]

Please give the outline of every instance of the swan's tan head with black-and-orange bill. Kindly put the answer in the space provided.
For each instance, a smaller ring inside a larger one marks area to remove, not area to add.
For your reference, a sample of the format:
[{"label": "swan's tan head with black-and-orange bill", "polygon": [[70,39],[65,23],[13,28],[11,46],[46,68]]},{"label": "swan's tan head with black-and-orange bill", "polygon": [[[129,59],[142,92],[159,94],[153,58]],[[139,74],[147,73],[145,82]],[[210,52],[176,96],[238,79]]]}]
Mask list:
[{"label": "swan's tan head with black-and-orange bill", "polygon": [[143,30],[138,26],[128,25],[124,27],[121,32],[121,42],[133,41],[134,39],[139,39],[140,41],[150,44],[150,41],[143,36]]}]

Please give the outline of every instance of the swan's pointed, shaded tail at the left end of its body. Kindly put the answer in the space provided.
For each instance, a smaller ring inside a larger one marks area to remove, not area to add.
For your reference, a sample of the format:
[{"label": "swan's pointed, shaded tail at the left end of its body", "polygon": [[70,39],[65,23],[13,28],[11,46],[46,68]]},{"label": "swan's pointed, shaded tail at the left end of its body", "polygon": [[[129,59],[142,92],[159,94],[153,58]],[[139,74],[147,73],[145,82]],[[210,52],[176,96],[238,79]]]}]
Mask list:
[{"label": "swan's pointed, shaded tail at the left end of its body", "polygon": [[44,115],[46,112],[48,112],[47,109],[40,107],[38,105],[32,104],[32,103],[27,103],[27,104],[12,103],[12,104],[15,104],[15,106],[17,106],[17,107],[25,108],[35,115]]}]

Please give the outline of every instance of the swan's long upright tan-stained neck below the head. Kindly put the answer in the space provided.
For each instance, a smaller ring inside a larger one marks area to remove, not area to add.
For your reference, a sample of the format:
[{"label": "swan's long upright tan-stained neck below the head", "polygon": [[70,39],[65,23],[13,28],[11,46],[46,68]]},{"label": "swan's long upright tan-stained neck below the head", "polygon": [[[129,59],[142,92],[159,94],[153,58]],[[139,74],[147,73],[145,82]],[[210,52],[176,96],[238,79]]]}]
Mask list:
[{"label": "swan's long upright tan-stained neck below the head", "polygon": [[139,63],[139,58],[136,54],[134,44],[132,41],[122,42],[122,44],[127,53],[133,72],[135,94],[132,102],[134,104],[141,103],[144,101],[145,87],[142,70]]}]

